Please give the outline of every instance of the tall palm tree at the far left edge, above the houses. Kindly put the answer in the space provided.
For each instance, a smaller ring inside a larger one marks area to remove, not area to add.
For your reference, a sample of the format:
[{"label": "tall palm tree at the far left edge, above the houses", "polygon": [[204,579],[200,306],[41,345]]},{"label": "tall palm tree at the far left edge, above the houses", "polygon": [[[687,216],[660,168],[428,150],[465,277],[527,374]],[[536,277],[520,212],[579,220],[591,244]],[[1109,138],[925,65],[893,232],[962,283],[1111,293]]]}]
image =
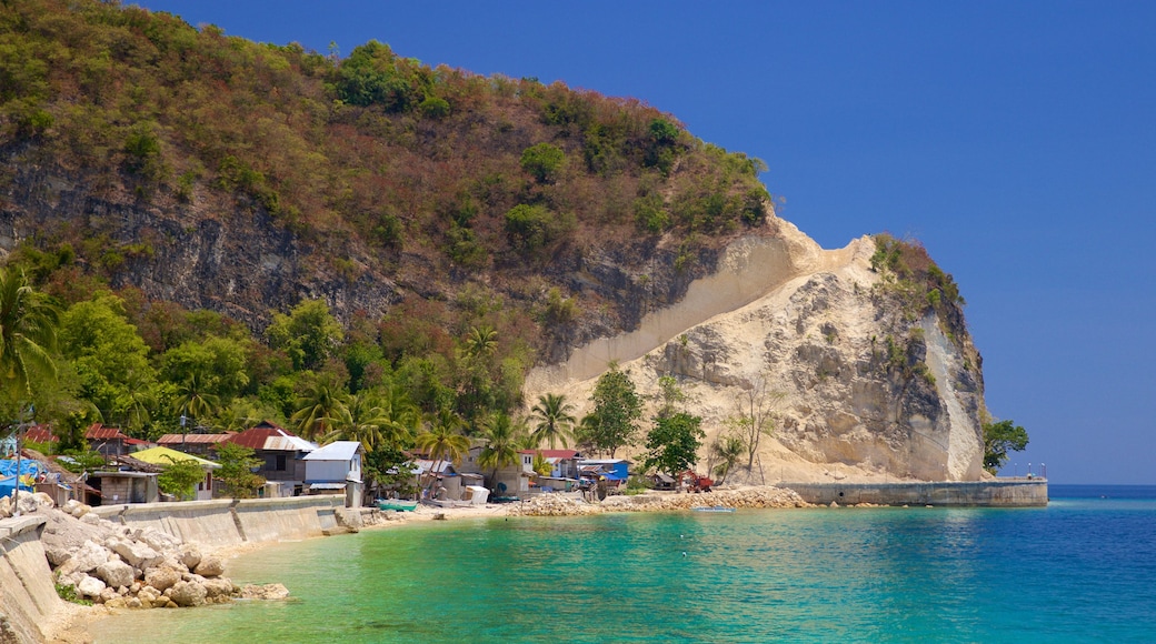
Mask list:
[{"label": "tall palm tree at the far left edge, above the houses", "polygon": [[32,289],[24,271],[0,271],[0,384],[12,402],[31,397],[30,375],[55,375],[52,351],[60,312]]}]

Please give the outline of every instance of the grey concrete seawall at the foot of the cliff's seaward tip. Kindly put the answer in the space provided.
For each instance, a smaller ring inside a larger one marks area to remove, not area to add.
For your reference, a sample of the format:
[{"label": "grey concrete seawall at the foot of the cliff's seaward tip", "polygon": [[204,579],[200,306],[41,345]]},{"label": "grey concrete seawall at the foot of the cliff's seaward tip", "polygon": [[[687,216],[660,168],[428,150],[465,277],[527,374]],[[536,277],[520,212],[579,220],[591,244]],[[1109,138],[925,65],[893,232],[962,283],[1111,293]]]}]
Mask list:
[{"label": "grey concrete seawall at the foot of the cliff's seaward tip", "polygon": [[799,493],[808,503],[830,506],[954,506],[983,508],[1043,508],[1047,480],[988,480],[895,484],[776,484]]}]

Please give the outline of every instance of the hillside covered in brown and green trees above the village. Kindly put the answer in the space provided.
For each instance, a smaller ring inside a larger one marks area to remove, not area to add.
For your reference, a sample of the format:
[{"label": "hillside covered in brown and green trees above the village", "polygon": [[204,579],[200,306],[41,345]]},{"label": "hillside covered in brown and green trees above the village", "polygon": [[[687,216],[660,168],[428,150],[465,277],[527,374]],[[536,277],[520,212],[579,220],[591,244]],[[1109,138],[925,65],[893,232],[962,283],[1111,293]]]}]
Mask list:
[{"label": "hillside covered in brown and green trees above the village", "polygon": [[377,42],[2,0],[0,418],[482,433],[531,366],[773,234],[761,166],[633,99]]}]

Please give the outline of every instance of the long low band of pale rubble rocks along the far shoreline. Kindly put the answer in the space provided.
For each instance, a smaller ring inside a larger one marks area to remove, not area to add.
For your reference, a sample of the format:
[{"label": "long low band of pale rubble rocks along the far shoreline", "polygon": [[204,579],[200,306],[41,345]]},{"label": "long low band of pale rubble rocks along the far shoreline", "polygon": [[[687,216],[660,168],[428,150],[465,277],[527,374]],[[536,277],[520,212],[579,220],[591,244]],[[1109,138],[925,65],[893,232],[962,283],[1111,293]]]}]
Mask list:
[{"label": "long low band of pale rubble rocks along the far shoreline", "polygon": [[601,512],[653,512],[690,510],[703,506],[729,508],[807,508],[810,504],[792,489],[749,487],[702,494],[638,494],[610,496],[601,503],[587,503],[576,496],[543,494],[511,506],[511,516],[577,516]]}]

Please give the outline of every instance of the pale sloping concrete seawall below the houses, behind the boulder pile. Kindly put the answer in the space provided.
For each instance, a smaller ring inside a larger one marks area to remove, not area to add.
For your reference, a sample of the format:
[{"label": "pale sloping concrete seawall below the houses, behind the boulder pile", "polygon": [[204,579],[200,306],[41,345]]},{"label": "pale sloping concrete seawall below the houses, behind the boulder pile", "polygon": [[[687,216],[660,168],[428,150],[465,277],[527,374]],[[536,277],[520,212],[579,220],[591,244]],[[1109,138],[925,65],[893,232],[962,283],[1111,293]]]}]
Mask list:
[{"label": "pale sloping concrete seawall below the houses, behind the boulder pile", "polygon": [[102,506],[101,518],[133,527],[155,527],[183,541],[212,546],[321,537],[338,526],[343,496],[295,496],[243,501],[186,501]]}]

